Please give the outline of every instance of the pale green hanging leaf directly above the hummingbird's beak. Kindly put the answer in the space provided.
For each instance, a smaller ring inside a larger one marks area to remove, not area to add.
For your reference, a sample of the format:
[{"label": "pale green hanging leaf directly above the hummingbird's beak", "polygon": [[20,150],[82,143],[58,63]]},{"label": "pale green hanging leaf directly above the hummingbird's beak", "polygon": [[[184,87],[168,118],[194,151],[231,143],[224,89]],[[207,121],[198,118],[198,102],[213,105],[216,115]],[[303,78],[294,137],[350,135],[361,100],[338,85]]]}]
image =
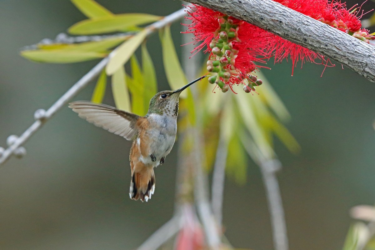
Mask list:
[{"label": "pale green hanging leaf directly above the hummingbird's beak", "polygon": [[[161,42],[165,75],[172,90],[177,90],[178,88],[183,87],[187,81],[181,68],[180,61],[178,61],[169,26],[164,28]],[[186,98],[186,91],[183,91],[180,96]]]}]

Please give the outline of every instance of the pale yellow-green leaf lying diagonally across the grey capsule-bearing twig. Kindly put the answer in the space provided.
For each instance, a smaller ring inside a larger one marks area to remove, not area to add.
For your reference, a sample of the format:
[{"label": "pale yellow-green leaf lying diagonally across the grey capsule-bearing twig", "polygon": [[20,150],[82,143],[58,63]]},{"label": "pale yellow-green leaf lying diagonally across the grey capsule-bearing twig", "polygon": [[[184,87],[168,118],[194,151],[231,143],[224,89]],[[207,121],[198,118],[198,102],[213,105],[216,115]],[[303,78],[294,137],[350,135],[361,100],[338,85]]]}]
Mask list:
[{"label": "pale yellow-green leaf lying diagonally across the grey capsule-bearing twig", "polygon": [[123,44],[117,47],[112,53],[110,61],[105,67],[107,75],[113,75],[127,60],[134,54],[139,45],[147,36],[147,30],[142,30]]}]

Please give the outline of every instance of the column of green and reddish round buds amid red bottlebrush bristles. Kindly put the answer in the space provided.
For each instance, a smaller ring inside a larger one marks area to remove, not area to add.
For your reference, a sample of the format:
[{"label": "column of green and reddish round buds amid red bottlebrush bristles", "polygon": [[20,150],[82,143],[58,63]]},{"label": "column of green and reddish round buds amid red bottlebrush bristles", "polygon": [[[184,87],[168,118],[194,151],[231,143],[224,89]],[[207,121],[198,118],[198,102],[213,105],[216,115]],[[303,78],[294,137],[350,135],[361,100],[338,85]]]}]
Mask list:
[{"label": "column of green and reddish round buds amid red bottlebrush bristles", "polygon": [[220,27],[216,30],[214,38],[210,42],[211,55],[207,61],[207,71],[216,73],[208,78],[211,84],[217,84],[223,92],[229,90],[229,79],[236,70],[234,63],[238,50],[234,48],[234,43],[239,42],[239,23],[224,15],[219,20]]}]

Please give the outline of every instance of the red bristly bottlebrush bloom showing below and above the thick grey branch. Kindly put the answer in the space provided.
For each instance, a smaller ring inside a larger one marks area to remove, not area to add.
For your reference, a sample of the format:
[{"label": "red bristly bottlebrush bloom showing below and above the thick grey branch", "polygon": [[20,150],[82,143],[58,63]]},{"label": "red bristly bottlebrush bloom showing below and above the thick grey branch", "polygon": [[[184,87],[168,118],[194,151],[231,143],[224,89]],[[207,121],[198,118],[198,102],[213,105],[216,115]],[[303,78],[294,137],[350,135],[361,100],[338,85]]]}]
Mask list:
[{"label": "red bristly bottlebrush bloom showing below and above the thick grey branch", "polygon": [[[286,7],[311,16],[332,27],[344,31],[360,40],[369,42],[375,39],[375,33],[369,34],[368,30],[361,30],[359,9],[346,8],[341,0],[274,0]],[[192,5],[187,11],[187,19],[192,21],[186,33],[193,33],[197,42],[202,42],[192,51],[200,51],[207,47],[205,52],[210,52],[207,70],[213,75],[208,79],[212,84],[217,84],[223,92],[232,88],[234,84],[245,84],[244,90],[254,90],[251,82],[252,72],[259,67],[258,64],[275,57],[275,63],[282,60],[291,60],[294,66],[298,61],[314,62],[316,59],[325,60],[323,55],[313,52],[303,46],[289,42],[266,30],[248,22],[238,20],[223,13],[207,9],[202,6]],[[326,65],[326,63],[323,63]],[[327,66],[327,65],[326,65]],[[292,69],[292,75],[293,75]],[[217,74],[214,74],[217,73]],[[247,86],[247,87],[246,87]]]}]

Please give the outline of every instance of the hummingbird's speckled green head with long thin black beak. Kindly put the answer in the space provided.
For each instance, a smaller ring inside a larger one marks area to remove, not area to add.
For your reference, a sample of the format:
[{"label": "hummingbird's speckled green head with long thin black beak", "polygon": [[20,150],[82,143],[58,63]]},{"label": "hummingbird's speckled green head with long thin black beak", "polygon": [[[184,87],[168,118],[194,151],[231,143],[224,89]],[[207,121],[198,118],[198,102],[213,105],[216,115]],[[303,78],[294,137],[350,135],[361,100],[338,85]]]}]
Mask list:
[{"label": "hummingbird's speckled green head with long thin black beak", "polygon": [[154,95],[150,100],[150,106],[148,107],[147,114],[167,114],[170,116],[177,117],[178,114],[178,97],[180,97],[181,92],[192,85],[194,82],[199,81],[200,79],[205,78],[206,76],[202,76],[194,81],[186,84],[184,87],[179,88],[178,90],[165,90],[160,91],[156,95]]}]

